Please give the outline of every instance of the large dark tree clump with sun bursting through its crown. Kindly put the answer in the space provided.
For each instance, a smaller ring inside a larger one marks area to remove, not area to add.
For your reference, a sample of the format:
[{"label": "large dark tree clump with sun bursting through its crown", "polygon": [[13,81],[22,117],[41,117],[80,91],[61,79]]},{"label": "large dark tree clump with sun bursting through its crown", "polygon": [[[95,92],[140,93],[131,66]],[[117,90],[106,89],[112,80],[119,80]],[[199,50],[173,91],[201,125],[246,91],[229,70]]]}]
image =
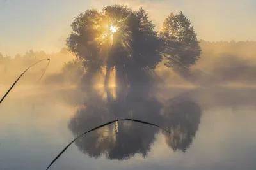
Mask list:
[{"label": "large dark tree clump with sun bursting through its crown", "polygon": [[154,69],[161,61],[160,40],[153,29],[154,24],[142,8],[132,11],[127,6],[114,5],[101,12],[90,9],[72,23],[67,46],[85,60],[88,73],[106,67],[108,84],[114,67],[120,76],[129,76],[132,71]]}]

